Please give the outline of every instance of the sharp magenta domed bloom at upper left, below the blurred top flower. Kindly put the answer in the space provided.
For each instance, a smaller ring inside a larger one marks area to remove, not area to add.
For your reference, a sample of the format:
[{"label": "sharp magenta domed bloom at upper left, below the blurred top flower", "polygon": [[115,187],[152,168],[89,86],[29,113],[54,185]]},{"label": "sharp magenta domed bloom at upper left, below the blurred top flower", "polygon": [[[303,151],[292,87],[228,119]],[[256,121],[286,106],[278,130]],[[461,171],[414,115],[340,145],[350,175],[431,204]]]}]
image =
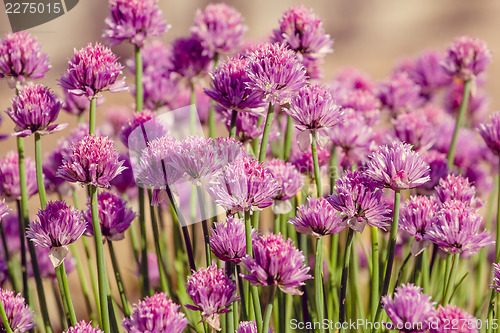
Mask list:
[{"label": "sharp magenta domed bloom at upper left, below the blurred top flower", "polygon": [[94,99],[102,91],[120,92],[128,89],[125,78],[118,80],[123,69],[118,57],[100,43],[95,46],[89,43],[78,51],[75,49],[68,66],[59,79],[59,85],[71,94]]}]

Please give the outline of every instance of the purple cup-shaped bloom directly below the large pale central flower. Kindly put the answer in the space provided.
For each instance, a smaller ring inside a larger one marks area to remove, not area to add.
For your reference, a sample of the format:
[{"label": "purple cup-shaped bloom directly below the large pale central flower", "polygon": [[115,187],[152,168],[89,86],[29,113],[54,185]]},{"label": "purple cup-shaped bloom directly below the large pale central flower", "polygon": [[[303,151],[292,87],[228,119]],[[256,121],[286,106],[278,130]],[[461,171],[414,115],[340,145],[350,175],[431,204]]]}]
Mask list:
[{"label": "purple cup-shaped bloom directly below the large pale central flower", "polygon": [[[224,222],[215,222],[210,231],[210,248],[217,258],[238,263],[246,255],[245,221],[228,216]],[[252,236],[257,237],[255,229]]]}]

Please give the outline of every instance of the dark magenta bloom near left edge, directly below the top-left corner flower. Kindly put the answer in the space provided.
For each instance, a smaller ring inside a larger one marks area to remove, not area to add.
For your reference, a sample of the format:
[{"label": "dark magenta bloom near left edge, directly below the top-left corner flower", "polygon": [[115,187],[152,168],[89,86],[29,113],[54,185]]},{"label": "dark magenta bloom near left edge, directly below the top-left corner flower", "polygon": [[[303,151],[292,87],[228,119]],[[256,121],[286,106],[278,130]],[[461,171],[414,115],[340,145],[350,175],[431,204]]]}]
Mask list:
[{"label": "dark magenta bloom near left edge, directly below the top-left corner flower", "polygon": [[34,133],[50,134],[68,126],[51,124],[57,119],[59,110],[61,102],[48,87],[29,84],[12,99],[12,108],[5,113],[16,124],[14,135],[24,137]]}]

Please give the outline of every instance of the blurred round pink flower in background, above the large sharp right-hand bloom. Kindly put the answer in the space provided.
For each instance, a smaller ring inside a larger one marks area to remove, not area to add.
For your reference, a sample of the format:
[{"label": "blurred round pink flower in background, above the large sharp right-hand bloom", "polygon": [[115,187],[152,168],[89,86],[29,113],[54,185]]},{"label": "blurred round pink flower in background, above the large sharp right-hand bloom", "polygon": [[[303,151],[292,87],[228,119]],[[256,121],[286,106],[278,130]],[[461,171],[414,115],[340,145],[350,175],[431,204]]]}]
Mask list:
[{"label": "blurred round pink flower in background, above the large sharp right-hand bloom", "polygon": [[388,80],[380,82],[377,96],[382,106],[393,116],[414,110],[424,102],[420,86],[405,72],[396,73]]}]

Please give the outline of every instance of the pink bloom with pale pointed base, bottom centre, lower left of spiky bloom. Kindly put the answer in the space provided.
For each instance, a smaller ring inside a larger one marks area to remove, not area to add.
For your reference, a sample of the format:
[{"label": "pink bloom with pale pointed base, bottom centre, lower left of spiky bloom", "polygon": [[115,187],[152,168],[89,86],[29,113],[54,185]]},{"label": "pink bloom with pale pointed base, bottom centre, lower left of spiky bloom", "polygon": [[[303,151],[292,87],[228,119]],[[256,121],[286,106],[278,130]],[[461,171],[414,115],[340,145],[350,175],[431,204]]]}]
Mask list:
[{"label": "pink bloom with pale pointed base, bottom centre, lower left of spiky bloom", "polygon": [[185,307],[201,311],[202,320],[220,331],[219,314],[229,311],[228,306],[236,301],[236,284],[226,276],[223,269],[216,265],[201,267],[193,275],[188,276],[186,291],[194,305]]}]

